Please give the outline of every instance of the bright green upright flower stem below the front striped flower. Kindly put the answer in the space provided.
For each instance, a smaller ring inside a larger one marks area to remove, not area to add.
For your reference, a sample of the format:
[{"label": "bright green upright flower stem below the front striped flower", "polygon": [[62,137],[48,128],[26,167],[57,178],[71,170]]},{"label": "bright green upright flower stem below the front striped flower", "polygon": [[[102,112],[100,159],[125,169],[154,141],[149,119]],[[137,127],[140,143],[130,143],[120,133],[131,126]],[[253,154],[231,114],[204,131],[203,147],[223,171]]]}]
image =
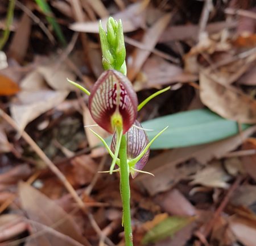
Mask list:
[{"label": "bright green upright flower stem below the front striped flower", "polygon": [[131,230],[131,211],[130,211],[130,184],[129,166],[127,165],[126,135],[122,135],[119,149],[120,158],[120,187],[123,204],[123,226],[125,227],[125,245],[133,246],[133,231]]}]

